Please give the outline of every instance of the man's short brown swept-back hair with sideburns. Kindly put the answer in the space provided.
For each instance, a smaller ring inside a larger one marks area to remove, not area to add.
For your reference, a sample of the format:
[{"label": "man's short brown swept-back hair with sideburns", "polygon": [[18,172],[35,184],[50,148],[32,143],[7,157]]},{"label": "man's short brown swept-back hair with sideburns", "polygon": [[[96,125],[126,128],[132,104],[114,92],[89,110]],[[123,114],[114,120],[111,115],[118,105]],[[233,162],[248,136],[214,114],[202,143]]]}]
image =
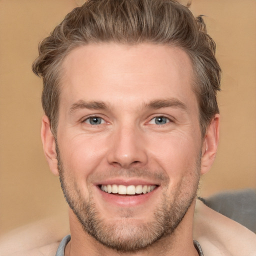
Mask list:
[{"label": "man's short brown swept-back hair with sideburns", "polygon": [[192,62],[193,89],[204,136],[207,125],[219,112],[216,93],[221,70],[215,58],[215,43],[206,33],[202,17],[194,18],[186,6],[175,0],[87,0],[40,42],[32,69],[43,79],[42,106],[53,135],[57,130],[58,81],[64,57],[77,46],[109,41],[182,48]]}]

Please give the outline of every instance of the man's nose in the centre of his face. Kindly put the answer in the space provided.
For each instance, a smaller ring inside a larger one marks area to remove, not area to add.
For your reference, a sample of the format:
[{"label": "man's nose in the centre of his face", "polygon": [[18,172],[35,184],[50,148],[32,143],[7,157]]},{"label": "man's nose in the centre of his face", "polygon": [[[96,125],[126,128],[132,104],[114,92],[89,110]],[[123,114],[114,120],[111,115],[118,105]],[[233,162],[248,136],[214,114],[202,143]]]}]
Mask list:
[{"label": "man's nose in the centre of his face", "polygon": [[121,127],[111,136],[107,161],[122,168],[143,166],[147,162],[146,142],[142,131],[135,127]]}]

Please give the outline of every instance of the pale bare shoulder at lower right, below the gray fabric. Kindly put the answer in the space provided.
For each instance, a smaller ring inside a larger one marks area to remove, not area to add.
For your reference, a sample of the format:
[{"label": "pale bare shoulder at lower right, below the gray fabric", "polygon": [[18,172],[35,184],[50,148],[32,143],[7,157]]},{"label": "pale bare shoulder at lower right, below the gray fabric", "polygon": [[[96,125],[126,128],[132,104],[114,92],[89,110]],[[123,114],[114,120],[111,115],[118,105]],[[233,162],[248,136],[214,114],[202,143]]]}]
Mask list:
[{"label": "pale bare shoulder at lower right, below the gray fabric", "polygon": [[256,234],[196,201],[194,239],[205,255],[256,256]]}]

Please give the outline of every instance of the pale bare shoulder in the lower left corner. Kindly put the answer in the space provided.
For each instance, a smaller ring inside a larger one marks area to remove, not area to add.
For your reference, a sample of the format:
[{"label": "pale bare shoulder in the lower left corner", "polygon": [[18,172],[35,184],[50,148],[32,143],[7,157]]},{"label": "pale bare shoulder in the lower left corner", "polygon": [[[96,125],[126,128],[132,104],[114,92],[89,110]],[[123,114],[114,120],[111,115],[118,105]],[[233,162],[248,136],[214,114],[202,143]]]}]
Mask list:
[{"label": "pale bare shoulder in the lower left corner", "polygon": [[68,234],[68,219],[52,216],[16,228],[0,237],[0,256],[54,255]]}]

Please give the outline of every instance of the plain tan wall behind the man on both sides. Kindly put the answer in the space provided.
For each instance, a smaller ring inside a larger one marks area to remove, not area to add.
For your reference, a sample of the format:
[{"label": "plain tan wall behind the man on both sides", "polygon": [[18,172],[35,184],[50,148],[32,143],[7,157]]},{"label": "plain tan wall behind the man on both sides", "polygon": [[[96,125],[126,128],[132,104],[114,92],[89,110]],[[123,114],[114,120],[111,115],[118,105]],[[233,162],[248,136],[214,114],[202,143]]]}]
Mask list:
[{"label": "plain tan wall behind the man on both sides", "polygon": [[[66,215],[41,149],[41,81],[30,66],[38,41],[79,2],[0,0],[0,234]],[[223,69],[219,150],[200,193],[256,188],[256,1],[192,0],[191,10],[206,15]]]}]

